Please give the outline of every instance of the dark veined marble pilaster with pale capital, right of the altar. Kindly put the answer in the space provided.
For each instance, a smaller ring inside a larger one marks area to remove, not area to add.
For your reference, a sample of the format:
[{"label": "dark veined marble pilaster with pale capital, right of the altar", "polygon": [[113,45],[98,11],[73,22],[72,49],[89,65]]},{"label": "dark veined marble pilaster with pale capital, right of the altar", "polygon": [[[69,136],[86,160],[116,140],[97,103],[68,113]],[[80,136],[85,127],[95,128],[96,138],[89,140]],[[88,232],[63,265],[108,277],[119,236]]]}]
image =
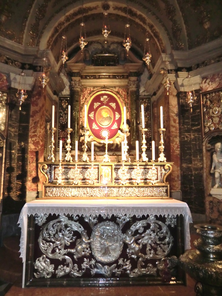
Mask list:
[{"label": "dark veined marble pilaster with pale capital, right of the altar", "polygon": [[[203,151],[201,137],[200,95],[195,91],[197,100],[190,112],[186,102],[187,73],[178,73],[175,86],[178,90],[180,150],[181,150],[181,191],[192,213],[205,213],[205,193],[203,182]],[[194,90],[200,88],[201,77],[192,77]]]}]

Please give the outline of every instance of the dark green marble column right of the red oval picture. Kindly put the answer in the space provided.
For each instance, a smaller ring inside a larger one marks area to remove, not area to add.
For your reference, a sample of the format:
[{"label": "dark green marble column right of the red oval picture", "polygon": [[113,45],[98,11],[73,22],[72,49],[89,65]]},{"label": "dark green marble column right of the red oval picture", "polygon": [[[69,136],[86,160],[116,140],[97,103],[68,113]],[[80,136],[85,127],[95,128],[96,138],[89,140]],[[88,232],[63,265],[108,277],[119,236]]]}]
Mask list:
[{"label": "dark green marble column right of the red oval picture", "polygon": [[[138,96],[139,96],[139,83],[137,77],[129,77],[129,119],[130,119],[130,136],[132,148],[136,145],[138,140]],[[135,150],[132,149],[132,150]]]}]

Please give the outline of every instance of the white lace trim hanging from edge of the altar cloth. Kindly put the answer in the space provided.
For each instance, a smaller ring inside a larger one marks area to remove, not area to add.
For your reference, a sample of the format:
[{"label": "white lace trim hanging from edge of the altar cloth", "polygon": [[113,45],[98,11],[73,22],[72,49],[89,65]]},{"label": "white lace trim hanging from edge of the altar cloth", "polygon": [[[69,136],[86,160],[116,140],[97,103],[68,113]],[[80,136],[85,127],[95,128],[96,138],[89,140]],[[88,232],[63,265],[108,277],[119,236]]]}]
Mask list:
[{"label": "white lace trim hanging from edge of the altar cloth", "polygon": [[35,204],[34,206],[24,206],[19,216],[18,224],[21,227],[21,239],[20,239],[20,257],[25,262],[26,257],[26,238],[27,238],[27,224],[28,216],[35,214],[70,214],[70,215],[136,215],[141,217],[142,215],[180,215],[184,216],[184,247],[185,250],[190,249],[190,232],[189,223],[192,223],[192,216],[189,207],[186,203],[182,202],[185,206],[140,206],[139,202],[137,206],[88,206],[88,207],[77,207],[64,206],[58,204],[57,206],[45,204],[42,202],[41,205]]}]

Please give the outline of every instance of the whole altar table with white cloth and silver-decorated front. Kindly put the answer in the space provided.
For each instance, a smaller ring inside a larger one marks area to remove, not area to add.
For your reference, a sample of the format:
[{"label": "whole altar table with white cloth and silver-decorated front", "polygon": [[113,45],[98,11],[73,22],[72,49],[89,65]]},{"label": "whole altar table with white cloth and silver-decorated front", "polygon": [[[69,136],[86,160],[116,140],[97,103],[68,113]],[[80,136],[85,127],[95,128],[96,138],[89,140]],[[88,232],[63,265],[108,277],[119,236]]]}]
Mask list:
[{"label": "whole altar table with white cloth and silver-decorated front", "polygon": [[[174,199],[28,202],[18,221],[21,227],[22,287],[158,283],[161,272],[158,274],[157,271],[163,270],[166,255],[175,255],[170,254],[170,250],[174,250],[178,257],[184,249],[190,248],[191,222],[188,205]],[[86,229],[86,224],[90,230]],[[154,248],[152,251],[151,247]],[[69,252],[71,256],[67,256]],[[84,261],[83,257],[86,257]],[[145,267],[144,261],[148,259],[151,261]],[[63,265],[55,271],[56,260]],[[137,268],[131,270],[135,261]],[[154,261],[158,262],[157,267]],[[108,264],[104,266],[104,263]],[[98,274],[103,277],[98,278]],[[120,274],[125,277],[121,279]],[[144,278],[139,280],[141,274]],[[150,282],[147,276],[151,278]]]}]

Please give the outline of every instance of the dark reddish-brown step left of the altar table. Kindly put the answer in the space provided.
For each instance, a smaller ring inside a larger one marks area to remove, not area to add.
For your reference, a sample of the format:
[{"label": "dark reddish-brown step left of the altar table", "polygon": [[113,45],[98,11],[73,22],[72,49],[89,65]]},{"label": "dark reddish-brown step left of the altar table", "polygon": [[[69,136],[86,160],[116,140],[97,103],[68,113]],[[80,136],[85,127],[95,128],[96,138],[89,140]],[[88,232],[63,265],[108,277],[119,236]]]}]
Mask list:
[{"label": "dark reddish-brown step left of the altar table", "polygon": [[20,237],[18,236],[4,238],[3,246],[0,248],[0,281],[14,283],[17,279],[22,279],[19,244]]}]

